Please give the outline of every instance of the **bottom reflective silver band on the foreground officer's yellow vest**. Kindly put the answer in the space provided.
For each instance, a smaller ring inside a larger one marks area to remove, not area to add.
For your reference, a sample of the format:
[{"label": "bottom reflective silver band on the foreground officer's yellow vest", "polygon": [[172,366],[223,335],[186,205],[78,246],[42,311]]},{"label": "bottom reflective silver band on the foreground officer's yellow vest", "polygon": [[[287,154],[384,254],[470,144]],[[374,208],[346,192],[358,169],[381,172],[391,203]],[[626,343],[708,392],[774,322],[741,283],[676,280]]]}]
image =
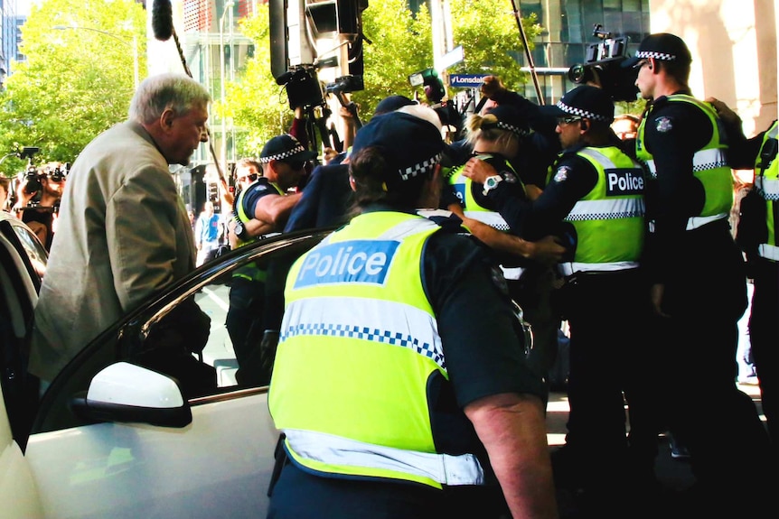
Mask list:
[{"label": "bottom reflective silver band on the foreground officer's yellow vest", "polygon": [[284,433],[296,454],[328,465],[393,470],[449,486],[484,484],[482,464],[473,454],[452,456],[394,449],[324,432],[285,429]]}]

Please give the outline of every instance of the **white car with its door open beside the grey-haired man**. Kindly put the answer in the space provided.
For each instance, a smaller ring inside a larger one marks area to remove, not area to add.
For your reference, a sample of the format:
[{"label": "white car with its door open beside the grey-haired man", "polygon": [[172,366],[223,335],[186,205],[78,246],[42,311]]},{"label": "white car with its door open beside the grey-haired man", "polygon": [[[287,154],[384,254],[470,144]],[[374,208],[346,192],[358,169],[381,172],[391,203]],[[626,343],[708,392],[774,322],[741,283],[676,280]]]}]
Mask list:
[{"label": "white car with its door open beside the grey-haired man", "polygon": [[[20,408],[17,378],[3,365],[0,515],[264,517],[278,431],[267,410],[267,385],[235,383],[237,364],[224,325],[228,283],[239,267],[257,262],[267,269],[268,286],[283,287],[289,264],[329,232],[241,247],[147,301],[62,370],[32,425],[24,422],[24,412],[21,418],[14,413]],[[10,323],[2,329],[6,357],[9,351],[18,355],[29,340],[45,261],[27,227],[15,218],[0,219],[0,322]],[[192,299],[211,318],[197,363],[212,366],[206,372],[216,375],[216,384],[188,398],[172,377],[137,365],[159,348],[161,337],[178,337],[164,328],[165,317]],[[276,306],[267,305],[268,311]],[[29,437],[19,432],[25,427],[32,429]]]}]

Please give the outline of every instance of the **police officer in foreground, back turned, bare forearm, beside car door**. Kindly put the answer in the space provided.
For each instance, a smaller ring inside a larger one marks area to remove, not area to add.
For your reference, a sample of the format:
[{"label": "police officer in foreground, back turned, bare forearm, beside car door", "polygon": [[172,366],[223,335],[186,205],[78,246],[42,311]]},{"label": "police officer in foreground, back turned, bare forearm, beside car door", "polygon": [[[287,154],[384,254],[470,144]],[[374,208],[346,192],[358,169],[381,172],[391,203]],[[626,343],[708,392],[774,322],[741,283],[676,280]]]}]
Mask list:
[{"label": "police officer in foreground, back turned, bare forearm, beside car door", "polygon": [[268,517],[557,516],[502,276],[459,220],[413,210],[437,207],[442,150],[418,117],[371,119],[350,163],[361,214],[289,273]]}]

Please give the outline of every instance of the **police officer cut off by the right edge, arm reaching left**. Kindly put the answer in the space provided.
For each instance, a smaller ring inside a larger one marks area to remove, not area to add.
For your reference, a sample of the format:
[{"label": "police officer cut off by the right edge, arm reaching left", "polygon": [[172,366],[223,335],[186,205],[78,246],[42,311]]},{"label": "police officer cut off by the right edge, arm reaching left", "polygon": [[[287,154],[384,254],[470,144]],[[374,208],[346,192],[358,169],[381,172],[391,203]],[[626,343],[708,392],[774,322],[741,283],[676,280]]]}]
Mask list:
[{"label": "police officer cut off by the right edge, arm reaching left", "polygon": [[771,436],[774,464],[779,466],[779,240],[776,200],[779,200],[779,162],[774,121],[765,132],[746,139],[741,118],[716,98],[709,98],[727,126],[731,145],[727,161],[739,170],[754,169],[754,187],[741,199],[736,241],[746,254],[747,273],[755,285],[749,316],[749,341],[760,382],[761,403]]}]

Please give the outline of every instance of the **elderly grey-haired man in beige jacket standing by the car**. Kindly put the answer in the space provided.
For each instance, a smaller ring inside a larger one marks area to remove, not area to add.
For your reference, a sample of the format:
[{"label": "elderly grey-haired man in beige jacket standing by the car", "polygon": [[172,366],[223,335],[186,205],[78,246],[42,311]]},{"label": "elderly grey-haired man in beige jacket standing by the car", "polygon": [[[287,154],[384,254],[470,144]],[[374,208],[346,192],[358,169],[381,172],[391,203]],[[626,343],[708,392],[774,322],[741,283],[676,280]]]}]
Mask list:
[{"label": "elderly grey-haired man in beige jacket standing by the car", "polygon": [[73,163],[35,309],[29,371],[42,381],[194,268],[192,227],[168,165],[188,164],[208,140],[210,100],[187,76],[145,79],[128,120]]}]

